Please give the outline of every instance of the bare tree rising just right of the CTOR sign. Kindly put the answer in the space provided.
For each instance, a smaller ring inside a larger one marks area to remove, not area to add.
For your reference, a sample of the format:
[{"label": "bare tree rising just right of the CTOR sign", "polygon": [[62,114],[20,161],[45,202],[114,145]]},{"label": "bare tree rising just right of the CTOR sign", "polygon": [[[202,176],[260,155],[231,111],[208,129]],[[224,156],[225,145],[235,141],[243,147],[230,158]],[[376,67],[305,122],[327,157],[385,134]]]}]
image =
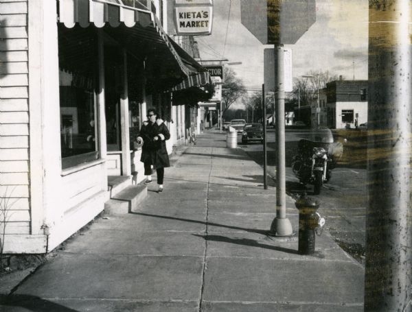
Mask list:
[{"label": "bare tree rising just right of the CTOR sign", "polygon": [[229,107],[240,99],[245,91],[242,80],[236,76],[235,71],[230,67],[224,69],[224,81],[222,84],[222,117]]}]

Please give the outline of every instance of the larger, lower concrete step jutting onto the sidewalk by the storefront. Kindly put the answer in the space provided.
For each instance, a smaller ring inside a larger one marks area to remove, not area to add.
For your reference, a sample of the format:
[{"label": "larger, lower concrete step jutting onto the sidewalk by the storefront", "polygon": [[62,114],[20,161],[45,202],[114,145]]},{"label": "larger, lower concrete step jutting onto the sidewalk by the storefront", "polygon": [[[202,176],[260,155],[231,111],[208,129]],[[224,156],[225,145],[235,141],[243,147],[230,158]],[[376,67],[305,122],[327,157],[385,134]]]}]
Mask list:
[{"label": "larger, lower concrete step jutting onto the sidewalk by the storefront", "polygon": [[146,185],[131,185],[112,196],[104,203],[104,211],[109,215],[124,215],[137,209],[137,206],[148,195]]}]

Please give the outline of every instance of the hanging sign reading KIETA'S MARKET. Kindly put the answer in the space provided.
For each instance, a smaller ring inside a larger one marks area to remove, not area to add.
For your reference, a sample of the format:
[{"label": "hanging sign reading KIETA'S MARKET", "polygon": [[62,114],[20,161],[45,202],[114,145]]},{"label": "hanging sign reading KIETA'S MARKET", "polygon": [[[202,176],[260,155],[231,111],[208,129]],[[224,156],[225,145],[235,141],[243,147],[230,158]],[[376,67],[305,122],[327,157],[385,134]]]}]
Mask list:
[{"label": "hanging sign reading KIETA'S MARKET", "polygon": [[175,0],[174,25],[179,36],[211,34],[213,1]]}]

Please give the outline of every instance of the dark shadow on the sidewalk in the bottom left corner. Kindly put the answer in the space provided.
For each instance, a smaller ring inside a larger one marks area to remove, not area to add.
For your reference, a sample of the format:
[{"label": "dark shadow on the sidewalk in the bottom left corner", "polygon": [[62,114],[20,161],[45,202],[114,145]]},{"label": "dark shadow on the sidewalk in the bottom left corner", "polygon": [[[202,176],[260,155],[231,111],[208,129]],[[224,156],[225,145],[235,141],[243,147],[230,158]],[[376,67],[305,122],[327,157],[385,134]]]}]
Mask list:
[{"label": "dark shadow on the sidewalk in the bottom left corner", "polygon": [[7,306],[21,307],[33,312],[78,312],[55,302],[30,295],[0,295],[0,304],[3,306],[3,308],[0,306],[1,311]]}]

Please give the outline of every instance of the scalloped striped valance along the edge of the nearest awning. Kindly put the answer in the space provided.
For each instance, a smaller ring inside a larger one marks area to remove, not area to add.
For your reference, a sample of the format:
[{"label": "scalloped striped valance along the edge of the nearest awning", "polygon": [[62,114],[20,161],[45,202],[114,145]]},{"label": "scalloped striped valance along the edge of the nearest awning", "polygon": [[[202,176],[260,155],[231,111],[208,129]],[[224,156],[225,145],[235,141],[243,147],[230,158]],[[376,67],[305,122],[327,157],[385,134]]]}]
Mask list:
[{"label": "scalloped striped valance along the edge of the nearest awning", "polygon": [[[150,1],[151,2],[151,1]],[[143,7],[143,5],[142,5]],[[116,0],[58,0],[58,22],[65,27],[126,27],[141,38],[157,40],[166,45],[185,77],[193,71],[183,64],[157,16],[151,10],[119,4]]]}]

